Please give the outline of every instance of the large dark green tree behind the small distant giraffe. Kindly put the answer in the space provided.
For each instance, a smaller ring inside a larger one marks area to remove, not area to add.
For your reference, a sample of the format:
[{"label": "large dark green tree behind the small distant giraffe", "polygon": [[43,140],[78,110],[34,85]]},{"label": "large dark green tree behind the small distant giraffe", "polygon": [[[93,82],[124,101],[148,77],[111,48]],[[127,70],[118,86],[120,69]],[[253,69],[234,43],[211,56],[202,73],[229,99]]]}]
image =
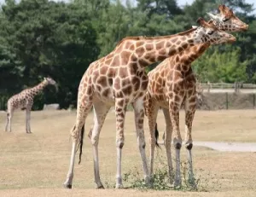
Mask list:
[{"label": "large dark green tree behind the small distant giraffe", "polygon": [[23,68],[15,73],[22,79],[21,90],[49,75],[58,82],[60,92],[46,94],[47,101],[58,101],[61,107],[75,102],[79,81],[99,53],[85,10],[78,4],[48,0],[9,0],[2,9],[3,35]]}]

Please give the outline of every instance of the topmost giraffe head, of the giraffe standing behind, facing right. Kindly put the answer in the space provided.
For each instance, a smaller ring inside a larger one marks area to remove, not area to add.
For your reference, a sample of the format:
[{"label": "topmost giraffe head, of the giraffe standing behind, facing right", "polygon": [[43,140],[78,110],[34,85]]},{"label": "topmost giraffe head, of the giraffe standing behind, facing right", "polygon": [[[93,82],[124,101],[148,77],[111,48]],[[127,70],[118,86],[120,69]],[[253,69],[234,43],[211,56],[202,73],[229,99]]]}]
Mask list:
[{"label": "topmost giraffe head, of the giraffe standing behind, facing right", "polygon": [[207,13],[218,29],[229,32],[247,31],[248,25],[242,22],[231,9],[225,5],[218,6],[219,14]]}]

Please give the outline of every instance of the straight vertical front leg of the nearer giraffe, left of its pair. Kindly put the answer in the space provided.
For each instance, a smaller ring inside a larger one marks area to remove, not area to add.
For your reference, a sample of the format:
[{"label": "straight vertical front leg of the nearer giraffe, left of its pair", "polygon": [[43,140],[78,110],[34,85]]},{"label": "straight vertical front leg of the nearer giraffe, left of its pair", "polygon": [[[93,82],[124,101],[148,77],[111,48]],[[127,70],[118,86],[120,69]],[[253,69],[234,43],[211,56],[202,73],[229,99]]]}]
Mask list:
[{"label": "straight vertical front leg of the nearer giraffe, left of its pair", "polygon": [[115,99],[115,116],[116,116],[116,148],[117,148],[117,173],[115,188],[123,188],[122,175],[121,175],[121,159],[122,148],[125,144],[124,125],[125,125],[125,112],[127,103],[125,99]]}]

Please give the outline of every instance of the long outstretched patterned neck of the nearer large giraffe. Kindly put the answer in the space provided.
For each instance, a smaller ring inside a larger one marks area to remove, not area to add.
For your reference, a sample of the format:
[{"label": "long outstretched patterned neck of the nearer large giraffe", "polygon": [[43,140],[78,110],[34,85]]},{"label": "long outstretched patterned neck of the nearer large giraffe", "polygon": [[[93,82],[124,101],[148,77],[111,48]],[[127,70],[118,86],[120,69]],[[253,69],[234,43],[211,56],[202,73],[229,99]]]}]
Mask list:
[{"label": "long outstretched patterned neck of the nearer large giraffe", "polygon": [[154,62],[163,61],[167,57],[194,46],[194,34],[195,30],[190,29],[172,36],[125,38],[117,45],[113,53],[120,53],[121,65],[135,62],[139,68],[144,69]]}]

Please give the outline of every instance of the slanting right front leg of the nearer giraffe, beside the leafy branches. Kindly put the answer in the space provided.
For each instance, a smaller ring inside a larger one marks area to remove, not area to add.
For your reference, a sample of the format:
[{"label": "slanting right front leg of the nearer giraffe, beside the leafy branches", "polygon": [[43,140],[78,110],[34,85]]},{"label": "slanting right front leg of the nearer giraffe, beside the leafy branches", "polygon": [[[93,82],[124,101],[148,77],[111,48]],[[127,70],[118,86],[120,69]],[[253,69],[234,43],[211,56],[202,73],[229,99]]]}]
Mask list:
[{"label": "slanting right front leg of the nearer giraffe, beside the leafy branches", "polygon": [[144,106],[143,106],[143,97],[140,97],[133,103],[134,108],[134,117],[135,117],[135,127],[137,133],[137,144],[140,150],[141,158],[143,160],[143,171],[144,171],[144,179],[146,184],[150,184],[150,177],[148,173],[148,162],[145,153],[145,136],[143,130],[143,122],[144,122]]}]

